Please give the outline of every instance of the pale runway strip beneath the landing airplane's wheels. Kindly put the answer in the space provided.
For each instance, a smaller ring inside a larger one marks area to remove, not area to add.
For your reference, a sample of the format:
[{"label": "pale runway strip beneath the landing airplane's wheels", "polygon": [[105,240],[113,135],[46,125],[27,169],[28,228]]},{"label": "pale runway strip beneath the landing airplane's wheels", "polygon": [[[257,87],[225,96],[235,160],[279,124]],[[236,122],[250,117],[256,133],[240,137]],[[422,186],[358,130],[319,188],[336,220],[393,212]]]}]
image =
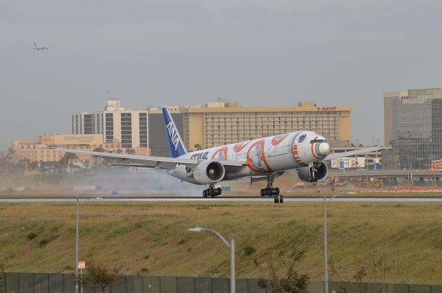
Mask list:
[{"label": "pale runway strip beneath the landing airplane's wheels", "polygon": [[[221,196],[211,198],[202,198],[195,196],[143,196],[143,197],[103,197],[96,199],[93,196],[79,197],[80,201],[89,199],[96,203],[115,203],[115,202],[199,202],[199,203],[220,203],[220,202],[257,202],[273,204],[273,197],[251,197],[251,196]],[[328,197],[328,199],[330,199]],[[0,203],[75,203],[76,197],[40,197],[40,198],[3,198]],[[296,197],[285,196],[284,203],[322,203],[323,196]],[[372,196],[372,197],[336,197],[334,202],[341,203],[442,203],[442,197],[401,197],[401,196]]]}]

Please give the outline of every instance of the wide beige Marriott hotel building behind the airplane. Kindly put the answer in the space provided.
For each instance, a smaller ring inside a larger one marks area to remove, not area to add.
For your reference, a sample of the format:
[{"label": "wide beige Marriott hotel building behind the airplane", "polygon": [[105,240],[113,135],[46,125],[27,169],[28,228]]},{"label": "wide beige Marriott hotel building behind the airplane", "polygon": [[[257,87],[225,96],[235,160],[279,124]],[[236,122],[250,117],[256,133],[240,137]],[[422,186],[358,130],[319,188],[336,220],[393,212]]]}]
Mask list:
[{"label": "wide beige Marriott hotel building behind the airplane", "polygon": [[181,108],[183,139],[188,150],[310,130],[323,134],[334,146],[346,146],[352,138],[352,106],[319,106],[311,101],[298,107],[242,108],[239,103],[218,101],[204,107]]}]

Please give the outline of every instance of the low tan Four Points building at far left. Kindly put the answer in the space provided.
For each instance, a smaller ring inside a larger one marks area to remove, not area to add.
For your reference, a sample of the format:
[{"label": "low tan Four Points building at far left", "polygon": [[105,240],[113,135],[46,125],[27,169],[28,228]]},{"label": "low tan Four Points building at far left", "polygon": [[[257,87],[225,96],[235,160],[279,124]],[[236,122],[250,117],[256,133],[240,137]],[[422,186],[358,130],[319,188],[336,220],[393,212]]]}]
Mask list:
[{"label": "low tan Four Points building at far left", "polygon": [[[39,137],[38,141],[12,141],[12,148],[16,160],[28,159],[37,162],[58,162],[63,156],[63,152],[55,152],[48,149],[48,146],[57,148],[68,148],[73,150],[92,151],[102,148],[106,152],[122,152],[126,153],[128,148],[123,148],[122,143],[117,140],[103,143],[101,134],[44,134]],[[147,148],[135,148],[131,152],[133,154],[148,155]],[[94,162],[93,156],[77,154],[74,163]]]}]

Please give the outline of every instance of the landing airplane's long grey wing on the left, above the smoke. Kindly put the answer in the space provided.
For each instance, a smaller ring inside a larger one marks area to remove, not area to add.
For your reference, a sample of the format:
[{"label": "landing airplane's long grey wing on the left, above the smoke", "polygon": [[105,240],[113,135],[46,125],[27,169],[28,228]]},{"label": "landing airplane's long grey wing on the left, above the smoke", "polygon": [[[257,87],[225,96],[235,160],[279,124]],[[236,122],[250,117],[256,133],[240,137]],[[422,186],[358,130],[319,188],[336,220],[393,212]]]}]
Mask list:
[{"label": "landing airplane's long grey wing on the left, above the smoke", "polygon": [[[155,168],[174,170],[176,165],[186,165],[190,168],[194,168],[200,161],[195,159],[181,159],[170,158],[166,156],[137,156],[133,154],[115,154],[111,152],[90,152],[85,150],[70,150],[64,148],[50,148],[56,152],[67,152],[69,154],[86,154],[90,156],[100,156],[106,159],[115,159],[115,162],[109,163],[109,165],[119,165],[128,167],[140,167],[140,168]],[[242,168],[247,165],[242,161],[220,161],[224,167],[229,169]]]}]

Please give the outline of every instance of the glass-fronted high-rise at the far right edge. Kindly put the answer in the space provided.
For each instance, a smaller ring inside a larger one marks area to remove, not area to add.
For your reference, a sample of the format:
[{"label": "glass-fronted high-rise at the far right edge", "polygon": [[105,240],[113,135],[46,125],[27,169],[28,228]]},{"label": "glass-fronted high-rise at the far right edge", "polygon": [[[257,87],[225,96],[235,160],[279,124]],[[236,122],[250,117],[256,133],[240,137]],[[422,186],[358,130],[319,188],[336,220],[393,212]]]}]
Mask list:
[{"label": "glass-fronted high-rise at the far right edge", "polygon": [[442,158],[442,89],[385,92],[384,117],[390,168],[430,168]]}]

